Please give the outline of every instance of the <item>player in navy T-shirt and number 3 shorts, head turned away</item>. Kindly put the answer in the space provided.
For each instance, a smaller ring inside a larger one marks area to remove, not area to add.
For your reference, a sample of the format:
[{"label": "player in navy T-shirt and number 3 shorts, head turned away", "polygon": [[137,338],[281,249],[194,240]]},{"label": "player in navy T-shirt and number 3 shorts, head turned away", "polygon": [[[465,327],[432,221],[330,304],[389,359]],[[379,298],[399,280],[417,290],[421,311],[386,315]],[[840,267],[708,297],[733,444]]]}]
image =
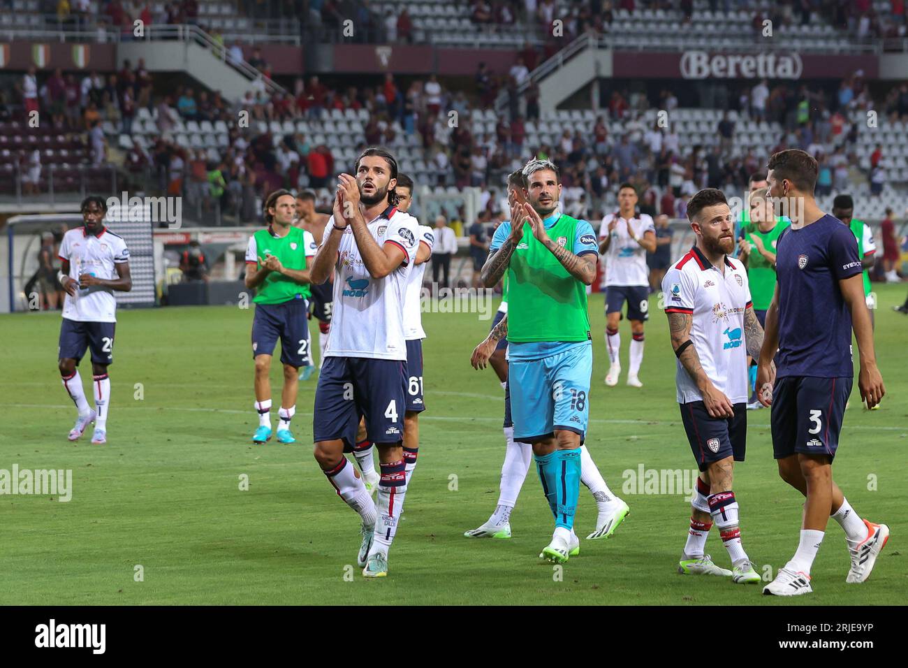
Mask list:
[{"label": "player in navy T-shirt and number 3 shorts, head turned away", "polygon": [[[787,150],[769,159],[769,194],[788,207],[791,227],[776,244],[778,282],[766,312],[757,386],[772,404],[773,450],[779,475],[806,497],[795,556],[763,593],[811,593],[810,569],[830,515],[845,532],[851,569],[845,582],[862,583],[889,538],[889,527],[861,519],[833,481],[832,464],[851,393],[852,328],[861,359],[858,387],[873,408],[885,394],[873,353],[873,330],[864,302],[861,258],[847,227],[814,201],[816,160]],[[776,350],[778,351],[776,355]],[[778,369],[773,384],[772,362]]]}]

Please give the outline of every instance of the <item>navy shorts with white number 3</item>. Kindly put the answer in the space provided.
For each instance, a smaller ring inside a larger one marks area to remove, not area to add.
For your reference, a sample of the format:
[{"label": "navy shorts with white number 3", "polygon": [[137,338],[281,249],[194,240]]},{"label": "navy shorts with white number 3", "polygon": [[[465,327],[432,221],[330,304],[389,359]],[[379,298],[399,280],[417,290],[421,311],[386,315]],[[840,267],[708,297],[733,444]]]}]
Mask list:
[{"label": "navy shorts with white number 3", "polygon": [[795,453],[825,454],[839,446],[852,378],[788,375],[775,379],[770,425],[775,459]]}]

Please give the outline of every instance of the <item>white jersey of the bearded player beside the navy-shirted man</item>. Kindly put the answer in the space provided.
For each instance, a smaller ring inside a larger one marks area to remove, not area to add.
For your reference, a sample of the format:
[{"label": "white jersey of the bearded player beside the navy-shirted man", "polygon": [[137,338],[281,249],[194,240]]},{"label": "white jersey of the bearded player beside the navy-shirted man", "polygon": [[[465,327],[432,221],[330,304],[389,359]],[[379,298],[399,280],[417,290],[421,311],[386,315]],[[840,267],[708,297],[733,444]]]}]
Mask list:
[{"label": "white jersey of the bearded player beside the navy-shirted man", "polygon": [[[690,340],[700,365],[732,404],[747,401],[744,313],[751,306],[747,270],[725,256],[725,275],[694,246],[662,280],[666,314],[691,314]],[[681,361],[676,362],[678,404],[703,401]]]}]

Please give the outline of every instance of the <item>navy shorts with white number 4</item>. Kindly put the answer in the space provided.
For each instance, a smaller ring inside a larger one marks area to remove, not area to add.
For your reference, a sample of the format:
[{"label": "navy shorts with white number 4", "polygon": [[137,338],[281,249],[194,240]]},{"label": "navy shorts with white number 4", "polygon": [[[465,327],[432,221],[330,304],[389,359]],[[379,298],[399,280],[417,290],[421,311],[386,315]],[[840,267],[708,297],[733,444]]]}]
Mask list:
[{"label": "navy shorts with white number 4", "polygon": [[400,443],[407,402],[407,363],[366,357],[325,357],[315,389],[312,440],[356,444],[360,418],[372,443]]}]

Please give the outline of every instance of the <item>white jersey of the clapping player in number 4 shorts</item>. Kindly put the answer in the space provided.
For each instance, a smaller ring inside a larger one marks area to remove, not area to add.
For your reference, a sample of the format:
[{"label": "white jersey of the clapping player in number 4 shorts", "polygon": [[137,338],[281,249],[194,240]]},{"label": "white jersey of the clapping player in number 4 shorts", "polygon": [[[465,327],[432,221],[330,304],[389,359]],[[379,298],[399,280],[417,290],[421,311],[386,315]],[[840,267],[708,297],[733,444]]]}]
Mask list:
[{"label": "white jersey of the clapping player in number 4 shorts", "polygon": [[[360,249],[348,227],[341,234],[334,264],[334,305],[327,357],[369,357],[406,360],[404,299],[407,280],[419,248],[419,223],[410,214],[389,206],[369,224],[380,246],[396,244],[404,253],[400,266],[380,280],[373,279],[362,261]],[[334,216],[325,225],[324,244],[334,229]]]}]

